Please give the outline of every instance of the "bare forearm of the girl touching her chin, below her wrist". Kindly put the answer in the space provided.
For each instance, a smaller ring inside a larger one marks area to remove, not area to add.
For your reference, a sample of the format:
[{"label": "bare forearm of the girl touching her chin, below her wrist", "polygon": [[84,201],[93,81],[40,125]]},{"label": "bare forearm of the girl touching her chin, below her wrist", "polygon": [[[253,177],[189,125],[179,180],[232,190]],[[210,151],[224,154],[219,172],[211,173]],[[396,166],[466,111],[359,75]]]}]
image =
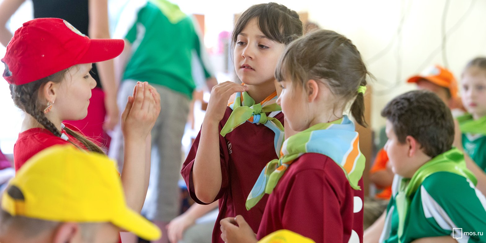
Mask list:
[{"label": "bare forearm of the girl touching her chin, below her wrist", "polygon": [[204,118],[201,137],[192,169],[194,191],[199,200],[211,203],[221,189],[219,122]]}]

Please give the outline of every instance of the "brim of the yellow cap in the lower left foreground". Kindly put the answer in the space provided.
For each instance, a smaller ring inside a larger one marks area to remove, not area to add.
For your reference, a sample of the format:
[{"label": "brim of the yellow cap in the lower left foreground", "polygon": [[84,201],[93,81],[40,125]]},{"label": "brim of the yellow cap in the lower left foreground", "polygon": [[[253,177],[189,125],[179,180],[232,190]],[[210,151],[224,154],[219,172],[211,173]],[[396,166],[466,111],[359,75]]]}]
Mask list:
[{"label": "brim of the yellow cap in the lower left foreground", "polygon": [[156,225],[130,208],[126,208],[118,214],[117,218],[113,219],[111,223],[136,234],[144,240],[156,241],[161,236],[160,229]]}]

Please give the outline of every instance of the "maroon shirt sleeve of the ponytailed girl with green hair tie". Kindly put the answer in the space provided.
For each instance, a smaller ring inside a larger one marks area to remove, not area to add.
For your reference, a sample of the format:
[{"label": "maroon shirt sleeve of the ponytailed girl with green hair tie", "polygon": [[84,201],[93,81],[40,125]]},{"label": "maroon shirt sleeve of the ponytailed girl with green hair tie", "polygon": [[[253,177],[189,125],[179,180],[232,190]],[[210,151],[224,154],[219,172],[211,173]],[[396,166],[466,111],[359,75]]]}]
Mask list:
[{"label": "maroon shirt sleeve of the ponytailed girl with green hair tie", "polygon": [[284,228],[316,242],[343,242],[344,225],[338,210],[343,194],[333,188],[322,171],[299,172],[289,185],[283,207]]}]

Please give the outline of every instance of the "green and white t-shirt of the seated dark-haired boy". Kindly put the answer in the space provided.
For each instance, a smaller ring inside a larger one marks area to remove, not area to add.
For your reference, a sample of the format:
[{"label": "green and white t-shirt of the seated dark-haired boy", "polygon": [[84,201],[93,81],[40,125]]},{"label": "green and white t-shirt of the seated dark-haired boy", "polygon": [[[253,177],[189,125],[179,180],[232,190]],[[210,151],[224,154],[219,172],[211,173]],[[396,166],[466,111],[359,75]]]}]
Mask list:
[{"label": "green and white t-shirt of the seated dark-haired boy", "polygon": [[[395,176],[380,243],[398,243],[396,196],[402,178]],[[454,229],[453,228],[462,228]],[[459,243],[486,242],[486,198],[465,177],[437,172],[411,196],[401,243],[423,237],[451,236]]]}]

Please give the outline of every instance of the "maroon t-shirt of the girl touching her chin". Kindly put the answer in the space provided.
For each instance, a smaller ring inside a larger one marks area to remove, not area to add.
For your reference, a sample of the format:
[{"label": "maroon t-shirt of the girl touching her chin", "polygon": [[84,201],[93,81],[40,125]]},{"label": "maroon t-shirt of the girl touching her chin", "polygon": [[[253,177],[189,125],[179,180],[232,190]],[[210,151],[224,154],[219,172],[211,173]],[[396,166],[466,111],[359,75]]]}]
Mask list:
[{"label": "maroon t-shirt of the girl touching her chin", "polygon": [[[231,108],[226,108],[225,116],[219,122],[219,131],[225,125],[231,111]],[[275,118],[283,125],[283,113],[278,113]],[[199,132],[192,144],[181,174],[186,181],[191,198],[198,204],[205,204],[196,197],[192,182],[192,166],[200,135]],[[265,195],[249,211],[246,210],[245,203],[261,170],[270,160],[278,158],[275,153],[274,138],[275,133],[270,128],[250,122],[244,122],[226,134],[226,137],[219,137],[222,181],[221,189],[215,198],[215,201],[219,199],[219,214],[213,229],[213,243],[223,243],[219,222],[226,217],[241,214],[253,231],[257,232],[268,195]]]}]

